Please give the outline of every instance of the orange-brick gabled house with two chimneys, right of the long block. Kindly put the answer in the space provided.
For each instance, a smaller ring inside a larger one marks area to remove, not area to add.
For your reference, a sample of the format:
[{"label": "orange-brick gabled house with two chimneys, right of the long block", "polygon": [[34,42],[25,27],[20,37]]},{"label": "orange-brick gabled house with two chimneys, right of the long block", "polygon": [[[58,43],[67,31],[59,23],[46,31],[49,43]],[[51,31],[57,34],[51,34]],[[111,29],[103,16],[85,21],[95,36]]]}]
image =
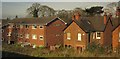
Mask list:
[{"label": "orange-brick gabled house with two chimneys, right of the long block", "polygon": [[[111,40],[105,38],[109,33],[106,32],[107,29],[112,29],[107,27],[109,18],[110,16],[106,14],[94,17],[80,17],[80,15],[74,14],[73,21],[64,29],[64,46],[83,51],[93,42],[101,46],[111,45],[112,36]],[[109,41],[110,43],[106,43]]]}]

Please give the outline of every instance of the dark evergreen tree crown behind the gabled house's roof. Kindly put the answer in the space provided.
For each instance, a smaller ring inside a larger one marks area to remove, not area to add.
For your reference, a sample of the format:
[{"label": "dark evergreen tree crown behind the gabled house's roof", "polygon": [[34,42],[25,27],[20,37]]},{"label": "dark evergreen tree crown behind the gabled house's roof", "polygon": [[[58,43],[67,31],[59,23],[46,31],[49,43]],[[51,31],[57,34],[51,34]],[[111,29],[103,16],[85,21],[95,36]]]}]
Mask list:
[{"label": "dark evergreen tree crown behind the gabled house's roof", "polygon": [[87,15],[89,16],[94,16],[94,15],[103,13],[102,8],[103,8],[102,6],[95,6],[95,7],[85,9],[85,12],[87,12]]}]

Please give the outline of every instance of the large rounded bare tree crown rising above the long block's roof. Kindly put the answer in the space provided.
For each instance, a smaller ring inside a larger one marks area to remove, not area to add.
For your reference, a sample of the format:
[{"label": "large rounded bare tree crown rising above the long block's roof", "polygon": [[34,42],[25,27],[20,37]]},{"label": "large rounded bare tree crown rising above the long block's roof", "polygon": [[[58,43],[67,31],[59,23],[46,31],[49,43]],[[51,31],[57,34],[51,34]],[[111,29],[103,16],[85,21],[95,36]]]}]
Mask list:
[{"label": "large rounded bare tree crown rising above the long block's roof", "polygon": [[39,3],[33,3],[32,6],[30,6],[27,9],[27,12],[29,13],[29,15],[27,16],[32,15],[33,17],[38,17],[38,16],[52,16],[54,15],[55,10],[46,5],[41,5]]}]

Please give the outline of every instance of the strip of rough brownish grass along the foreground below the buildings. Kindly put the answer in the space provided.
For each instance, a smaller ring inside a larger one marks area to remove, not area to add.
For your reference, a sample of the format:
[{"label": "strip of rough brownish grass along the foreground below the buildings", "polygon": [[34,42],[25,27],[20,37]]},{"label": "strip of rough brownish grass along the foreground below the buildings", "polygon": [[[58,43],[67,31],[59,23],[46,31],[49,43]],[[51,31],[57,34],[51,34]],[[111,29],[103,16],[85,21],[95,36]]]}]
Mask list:
[{"label": "strip of rough brownish grass along the foreground below the buildings", "polygon": [[[111,53],[105,54],[98,53],[97,51],[89,52],[84,51],[78,53],[74,49],[59,48],[55,51],[50,51],[47,48],[32,48],[32,47],[21,47],[19,44],[8,45],[3,43],[2,51],[14,52],[22,55],[28,55],[33,57],[119,57],[120,54]],[[9,54],[6,54],[6,56]]]}]

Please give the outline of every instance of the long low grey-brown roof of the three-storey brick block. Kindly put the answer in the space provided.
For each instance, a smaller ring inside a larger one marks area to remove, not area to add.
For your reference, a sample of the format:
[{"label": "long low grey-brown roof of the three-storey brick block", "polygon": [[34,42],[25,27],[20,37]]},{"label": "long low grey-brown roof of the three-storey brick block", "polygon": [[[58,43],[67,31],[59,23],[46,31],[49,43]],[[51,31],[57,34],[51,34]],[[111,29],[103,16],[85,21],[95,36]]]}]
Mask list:
[{"label": "long low grey-brown roof of the three-storey brick block", "polygon": [[[59,17],[41,17],[41,18],[16,18],[13,19],[10,23],[17,23],[17,24],[40,24],[40,25],[47,25],[48,23],[54,21],[56,18]],[[68,23],[66,19],[59,18],[62,22]]]}]

